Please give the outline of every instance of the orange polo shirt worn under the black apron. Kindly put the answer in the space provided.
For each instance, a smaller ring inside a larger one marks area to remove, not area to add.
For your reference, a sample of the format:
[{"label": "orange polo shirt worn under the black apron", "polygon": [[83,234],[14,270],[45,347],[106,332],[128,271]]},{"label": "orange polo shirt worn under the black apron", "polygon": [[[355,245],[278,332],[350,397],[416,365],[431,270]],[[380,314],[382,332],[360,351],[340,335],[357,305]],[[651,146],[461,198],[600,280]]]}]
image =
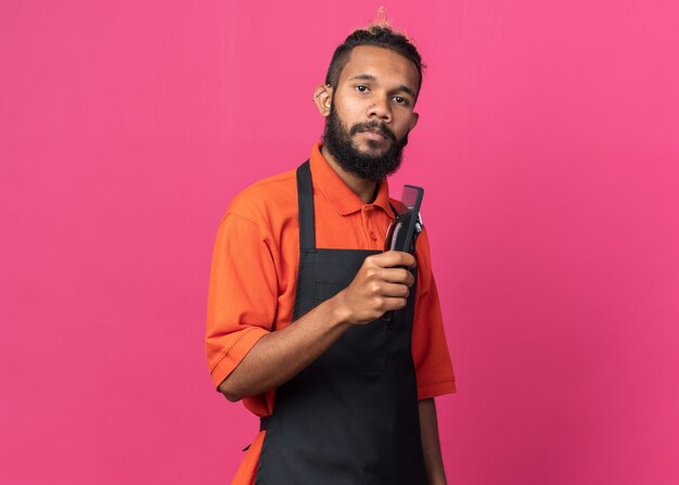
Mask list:
[{"label": "orange polo shirt worn under the black apron", "polygon": [[[316,212],[316,245],[321,248],[382,250],[394,219],[388,184],[366,204],[313,145],[310,156]],[[396,201],[394,203],[397,203]],[[297,267],[295,169],[261,180],[232,201],[219,225],[210,268],[206,354],[215,387],[268,332],[292,322]],[[420,399],[453,393],[454,375],[444,334],[426,229],[418,238],[418,286],[412,357]],[[257,416],[273,409],[274,391],[243,399]],[[264,441],[259,433],[239,469],[235,484],[254,478]]]}]

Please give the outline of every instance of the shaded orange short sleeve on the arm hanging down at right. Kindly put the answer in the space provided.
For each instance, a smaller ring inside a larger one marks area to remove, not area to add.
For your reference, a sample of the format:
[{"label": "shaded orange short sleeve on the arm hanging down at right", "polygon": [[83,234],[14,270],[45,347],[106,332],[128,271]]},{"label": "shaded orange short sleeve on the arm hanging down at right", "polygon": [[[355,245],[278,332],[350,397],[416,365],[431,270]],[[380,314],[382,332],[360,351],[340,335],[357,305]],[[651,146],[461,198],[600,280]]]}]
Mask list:
[{"label": "shaded orange short sleeve on the arm hanging down at right", "polygon": [[427,399],[454,393],[456,381],[425,230],[418,238],[417,257],[418,290],[412,331],[412,357],[418,378],[418,398]]}]

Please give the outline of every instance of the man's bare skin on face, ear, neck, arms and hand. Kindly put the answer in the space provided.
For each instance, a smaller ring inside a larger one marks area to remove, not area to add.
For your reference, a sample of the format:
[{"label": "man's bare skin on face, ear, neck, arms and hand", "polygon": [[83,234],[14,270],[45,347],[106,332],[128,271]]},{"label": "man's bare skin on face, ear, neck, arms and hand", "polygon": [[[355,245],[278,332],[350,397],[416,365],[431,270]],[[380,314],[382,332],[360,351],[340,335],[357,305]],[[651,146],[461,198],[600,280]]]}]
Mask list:
[{"label": "man's bare skin on face, ear, neck, arms and hand", "polygon": [[[342,71],[334,89],[334,109],[345,128],[376,119],[400,140],[418,123],[413,111],[418,87],[418,71],[406,58],[388,49],[360,46],[351,51]],[[333,88],[318,86],[313,100],[321,116],[328,117]],[[388,149],[392,140],[375,132],[359,132],[353,142],[361,151],[379,154]],[[330,153],[323,149],[321,153],[363,202],[373,201],[376,182],[346,173]],[[219,385],[219,391],[227,399],[236,401],[278,387],[316,360],[351,326],[366,324],[385,311],[403,308],[414,283],[407,268],[415,265],[411,254],[397,251],[367,257],[346,289],[286,328],[261,337]],[[421,400],[419,410],[428,482],[446,484],[434,399]]]}]

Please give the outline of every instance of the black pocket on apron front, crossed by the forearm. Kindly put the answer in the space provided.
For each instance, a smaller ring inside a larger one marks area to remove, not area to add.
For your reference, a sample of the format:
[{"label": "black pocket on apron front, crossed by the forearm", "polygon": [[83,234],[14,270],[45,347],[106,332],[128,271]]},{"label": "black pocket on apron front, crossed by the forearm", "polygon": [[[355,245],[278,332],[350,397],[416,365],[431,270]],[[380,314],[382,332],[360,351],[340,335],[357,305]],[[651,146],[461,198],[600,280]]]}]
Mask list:
[{"label": "black pocket on apron front, crossed by the forearm", "polygon": [[[315,306],[331,298],[346,285],[317,281],[313,289]],[[353,326],[310,367],[340,371],[383,371],[386,366],[386,323],[374,320]]]}]

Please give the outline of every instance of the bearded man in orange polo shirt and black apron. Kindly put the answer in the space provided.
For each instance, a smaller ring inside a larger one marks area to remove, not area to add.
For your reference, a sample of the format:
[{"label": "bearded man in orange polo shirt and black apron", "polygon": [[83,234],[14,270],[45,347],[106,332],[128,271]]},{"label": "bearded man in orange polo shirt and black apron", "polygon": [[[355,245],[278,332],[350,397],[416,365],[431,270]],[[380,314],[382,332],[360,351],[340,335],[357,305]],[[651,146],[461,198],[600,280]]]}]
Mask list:
[{"label": "bearded man in orange polo shirt and black apron", "polygon": [[[215,245],[207,359],[261,418],[233,483],[444,484],[434,397],[454,392],[426,231],[382,252],[422,82],[386,26],[349,35],[313,101],[322,145],[241,192]],[[385,318],[385,312],[390,318]]]}]

